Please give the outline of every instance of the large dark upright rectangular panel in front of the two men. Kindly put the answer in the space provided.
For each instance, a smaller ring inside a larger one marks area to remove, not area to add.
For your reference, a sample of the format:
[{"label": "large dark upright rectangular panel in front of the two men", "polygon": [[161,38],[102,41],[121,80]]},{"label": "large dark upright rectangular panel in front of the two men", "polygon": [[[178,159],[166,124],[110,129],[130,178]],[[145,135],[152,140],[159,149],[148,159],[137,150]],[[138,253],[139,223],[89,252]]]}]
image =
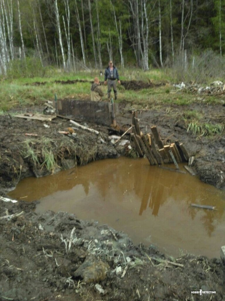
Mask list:
[{"label": "large dark upright rectangular panel in front of the two men", "polygon": [[[118,104],[114,104],[116,115]],[[110,126],[113,123],[112,105],[104,101],[82,101],[75,99],[58,99],[58,114],[99,125]]]}]

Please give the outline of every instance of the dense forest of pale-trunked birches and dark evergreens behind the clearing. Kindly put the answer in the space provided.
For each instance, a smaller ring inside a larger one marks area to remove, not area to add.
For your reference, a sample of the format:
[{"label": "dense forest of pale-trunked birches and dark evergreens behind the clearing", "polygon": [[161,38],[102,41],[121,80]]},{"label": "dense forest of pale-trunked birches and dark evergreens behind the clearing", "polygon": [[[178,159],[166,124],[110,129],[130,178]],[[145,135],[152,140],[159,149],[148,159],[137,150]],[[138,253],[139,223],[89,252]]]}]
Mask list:
[{"label": "dense forest of pale-trunked birches and dark evergreens behind the clearing", "polygon": [[225,0],[0,0],[0,73],[29,59],[68,71],[109,59],[185,69],[203,53],[222,58],[224,35]]}]

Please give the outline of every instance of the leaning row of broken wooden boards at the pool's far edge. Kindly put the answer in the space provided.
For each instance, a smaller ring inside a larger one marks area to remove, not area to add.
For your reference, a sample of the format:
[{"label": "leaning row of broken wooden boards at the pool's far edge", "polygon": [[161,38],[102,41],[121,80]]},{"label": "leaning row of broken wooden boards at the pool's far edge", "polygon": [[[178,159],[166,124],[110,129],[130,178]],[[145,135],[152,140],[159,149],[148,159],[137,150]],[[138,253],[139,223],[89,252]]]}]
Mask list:
[{"label": "leaning row of broken wooden boards at the pool's far edge", "polygon": [[137,112],[132,115],[132,128],[131,140],[134,142],[137,154],[140,157],[146,155],[151,165],[174,163],[179,169],[178,163],[189,161],[190,156],[184,145],[179,141],[164,145],[168,138],[162,141],[156,126],[151,127],[152,135],[144,135],[140,131]]}]

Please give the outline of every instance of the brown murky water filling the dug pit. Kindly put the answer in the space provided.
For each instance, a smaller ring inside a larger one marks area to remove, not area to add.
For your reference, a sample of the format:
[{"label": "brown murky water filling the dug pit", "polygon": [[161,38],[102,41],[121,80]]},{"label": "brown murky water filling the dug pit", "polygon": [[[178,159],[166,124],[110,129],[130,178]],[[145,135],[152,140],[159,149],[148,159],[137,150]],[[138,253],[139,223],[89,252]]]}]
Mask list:
[{"label": "brown murky water filling the dug pit", "polygon": [[[182,166],[181,166],[182,168]],[[184,169],[183,169],[184,170]],[[107,159],[44,178],[26,178],[10,197],[40,200],[37,212],[67,211],[125,231],[135,244],[220,257],[225,244],[225,192],[188,173],[146,159]],[[191,207],[216,206],[216,211]]]}]

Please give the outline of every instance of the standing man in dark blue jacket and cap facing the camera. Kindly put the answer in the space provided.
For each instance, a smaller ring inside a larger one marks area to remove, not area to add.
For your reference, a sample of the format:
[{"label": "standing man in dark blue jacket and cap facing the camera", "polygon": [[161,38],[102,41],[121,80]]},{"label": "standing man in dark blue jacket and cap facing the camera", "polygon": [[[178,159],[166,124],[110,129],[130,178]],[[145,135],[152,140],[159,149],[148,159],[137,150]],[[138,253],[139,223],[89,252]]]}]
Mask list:
[{"label": "standing man in dark blue jacket and cap facing the camera", "polygon": [[119,74],[116,69],[116,67],[113,66],[113,62],[109,61],[109,67],[105,70],[105,82],[104,84],[107,84],[108,79],[108,100],[110,101],[110,93],[113,88],[113,92],[115,95],[115,100],[117,99],[117,90],[116,90],[116,79],[118,80],[118,83],[120,84],[119,80]]}]

